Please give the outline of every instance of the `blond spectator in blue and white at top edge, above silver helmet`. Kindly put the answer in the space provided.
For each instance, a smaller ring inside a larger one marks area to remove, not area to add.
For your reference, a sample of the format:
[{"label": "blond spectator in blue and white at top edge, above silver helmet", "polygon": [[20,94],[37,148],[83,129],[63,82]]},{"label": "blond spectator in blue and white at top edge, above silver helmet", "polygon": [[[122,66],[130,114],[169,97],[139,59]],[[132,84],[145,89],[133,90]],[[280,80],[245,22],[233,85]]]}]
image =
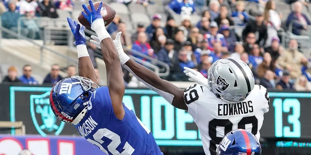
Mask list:
[{"label": "blond spectator in blue and white at top edge, above silver helmet", "polygon": [[234,25],[245,26],[249,17],[248,13],[244,10],[245,3],[243,0],[236,2],[236,9],[232,11],[231,17],[234,21]]}]

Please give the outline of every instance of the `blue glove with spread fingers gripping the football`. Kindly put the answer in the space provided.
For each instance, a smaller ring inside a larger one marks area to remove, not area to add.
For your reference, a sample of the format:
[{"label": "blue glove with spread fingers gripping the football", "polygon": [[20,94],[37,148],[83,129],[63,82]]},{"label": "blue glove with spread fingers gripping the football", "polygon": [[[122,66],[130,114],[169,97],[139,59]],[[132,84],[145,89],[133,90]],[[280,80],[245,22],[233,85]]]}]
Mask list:
[{"label": "blue glove with spread fingers gripping the football", "polygon": [[84,11],[86,12],[86,13],[82,12],[82,15],[86,18],[89,24],[92,25],[93,21],[95,21],[96,19],[98,18],[103,19],[102,14],[101,14],[103,2],[101,1],[97,10],[95,10],[92,0],[88,0],[88,3],[91,8],[91,11],[88,10],[85,4],[82,4],[82,7]]}]

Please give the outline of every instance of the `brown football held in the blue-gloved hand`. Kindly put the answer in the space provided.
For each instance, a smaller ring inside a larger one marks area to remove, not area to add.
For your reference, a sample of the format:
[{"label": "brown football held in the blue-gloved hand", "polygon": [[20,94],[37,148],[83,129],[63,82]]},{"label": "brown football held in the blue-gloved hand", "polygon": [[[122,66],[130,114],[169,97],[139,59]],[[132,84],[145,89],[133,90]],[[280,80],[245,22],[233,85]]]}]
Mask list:
[{"label": "brown football held in the blue-gloved hand", "polygon": [[[98,6],[100,4],[100,1],[93,3],[94,4],[94,8],[97,10]],[[87,6],[88,10],[91,10],[90,5]],[[84,10],[83,10],[84,11]],[[85,12],[85,11],[84,11]],[[113,18],[116,16],[116,10],[113,9],[109,4],[105,3],[103,1],[103,5],[102,5],[102,10],[101,10],[101,14],[103,16],[104,19],[104,23],[105,26],[109,25]],[[89,24],[89,22],[86,20],[86,18],[82,15],[82,12],[80,13],[79,17],[78,17],[78,21],[84,25],[87,29],[91,29],[91,25]]]}]

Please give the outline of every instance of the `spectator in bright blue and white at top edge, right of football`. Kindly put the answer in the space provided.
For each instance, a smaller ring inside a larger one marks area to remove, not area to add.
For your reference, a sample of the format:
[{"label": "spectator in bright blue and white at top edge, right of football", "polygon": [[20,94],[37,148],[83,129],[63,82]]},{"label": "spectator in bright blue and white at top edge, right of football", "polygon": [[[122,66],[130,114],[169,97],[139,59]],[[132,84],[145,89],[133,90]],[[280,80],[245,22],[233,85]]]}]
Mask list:
[{"label": "spectator in bright blue and white at top edge, right of football", "polygon": [[166,9],[179,15],[190,16],[194,11],[193,0],[172,0]]}]

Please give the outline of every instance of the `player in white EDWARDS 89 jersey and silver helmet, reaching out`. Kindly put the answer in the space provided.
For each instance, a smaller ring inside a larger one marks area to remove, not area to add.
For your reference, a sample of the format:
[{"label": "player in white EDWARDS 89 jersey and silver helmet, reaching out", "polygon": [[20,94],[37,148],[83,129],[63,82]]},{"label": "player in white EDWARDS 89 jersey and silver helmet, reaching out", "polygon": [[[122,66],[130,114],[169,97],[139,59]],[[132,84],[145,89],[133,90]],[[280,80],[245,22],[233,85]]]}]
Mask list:
[{"label": "player in white EDWARDS 89 jersey and silver helmet, reaching out", "polygon": [[[91,37],[91,42],[99,47],[98,38]],[[263,114],[269,110],[269,95],[266,88],[255,85],[251,69],[241,60],[214,62],[208,78],[186,67],[186,75],[199,84],[182,90],[130,59],[120,41],[116,47],[127,70],[174,107],[188,110],[200,130],[206,155],[216,155],[220,141],[234,129],[246,129],[259,139]]]}]

